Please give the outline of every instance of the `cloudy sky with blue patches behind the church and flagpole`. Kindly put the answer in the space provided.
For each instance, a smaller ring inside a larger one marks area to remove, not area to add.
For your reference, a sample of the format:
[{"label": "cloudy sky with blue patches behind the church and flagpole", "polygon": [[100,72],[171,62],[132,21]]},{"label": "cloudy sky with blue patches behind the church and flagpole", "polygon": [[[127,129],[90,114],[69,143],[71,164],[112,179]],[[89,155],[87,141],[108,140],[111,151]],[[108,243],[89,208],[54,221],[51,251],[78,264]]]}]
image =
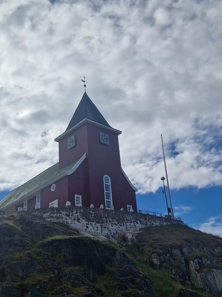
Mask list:
[{"label": "cloudy sky with blue patches behind the church and flagpole", "polygon": [[[222,236],[222,2],[0,0],[0,195],[58,161],[84,88],[119,136],[138,208]],[[151,209],[150,209],[151,208]]]}]

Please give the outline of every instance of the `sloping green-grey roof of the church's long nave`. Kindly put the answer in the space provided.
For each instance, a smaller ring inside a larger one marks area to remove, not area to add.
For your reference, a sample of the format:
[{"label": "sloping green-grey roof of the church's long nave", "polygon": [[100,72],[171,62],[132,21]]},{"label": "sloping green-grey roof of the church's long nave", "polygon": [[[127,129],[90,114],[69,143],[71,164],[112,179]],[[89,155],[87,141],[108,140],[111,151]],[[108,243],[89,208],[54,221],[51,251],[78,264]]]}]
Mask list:
[{"label": "sloping green-grey roof of the church's long nave", "polygon": [[42,173],[36,175],[34,178],[30,179],[23,185],[19,186],[18,188],[10,192],[7,196],[5,196],[0,201],[0,209],[9,206],[12,203],[15,203],[16,201],[22,199],[23,197],[28,196],[29,194],[37,191],[40,187],[43,187],[44,185],[50,183],[51,181],[59,178],[66,171],[70,170],[73,166],[75,166],[78,161],[79,159],[73,161],[72,163],[68,164],[67,166],[61,169],[59,169],[59,162],[58,162],[55,165],[43,171]]}]

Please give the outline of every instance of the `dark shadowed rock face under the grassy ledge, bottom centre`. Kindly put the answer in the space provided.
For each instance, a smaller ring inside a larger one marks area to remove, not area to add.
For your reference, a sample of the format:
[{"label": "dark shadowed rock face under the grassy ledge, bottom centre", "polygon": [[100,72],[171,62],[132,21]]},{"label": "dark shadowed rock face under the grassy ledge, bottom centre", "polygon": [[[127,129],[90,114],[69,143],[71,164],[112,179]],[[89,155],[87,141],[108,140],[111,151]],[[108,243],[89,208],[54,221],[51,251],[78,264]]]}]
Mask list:
[{"label": "dark shadowed rock face under the grassy ledge, bottom centre", "polygon": [[[156,296],[149,279],[139,271],[125,253],[116,250],[109,245],[103,245],[89,238],[63,238],[51,239],[42,243],[41,248],[50,253],[52,260],[58,256],[65,266],[84,267],[70,269],[66,274],[66,280],[72,286],[88,285],[94,295],[92,283],[97,282],[97,275],[107,272],[107,265],[113,269],[112,279],[119,291],[131,291],[133,295],[145,297]],[[122,296],[128,296],[123,293]]]}]

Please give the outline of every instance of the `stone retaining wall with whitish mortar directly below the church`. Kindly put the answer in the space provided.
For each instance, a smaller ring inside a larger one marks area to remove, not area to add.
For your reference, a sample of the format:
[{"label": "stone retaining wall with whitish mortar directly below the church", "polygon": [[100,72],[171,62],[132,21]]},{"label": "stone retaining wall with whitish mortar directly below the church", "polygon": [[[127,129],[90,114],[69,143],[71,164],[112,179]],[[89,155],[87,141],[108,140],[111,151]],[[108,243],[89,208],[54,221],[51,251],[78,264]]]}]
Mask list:
[{"label": "stone retaining wall with whitish mortar directly below the church", "polygon": [[147,226],[183,224],[182,221],[149,214],[77,206],[36,209],[33,214],[49,222],[59,222],[85,233],[109,238],[115,237],[119,231],[135,231]]}]

